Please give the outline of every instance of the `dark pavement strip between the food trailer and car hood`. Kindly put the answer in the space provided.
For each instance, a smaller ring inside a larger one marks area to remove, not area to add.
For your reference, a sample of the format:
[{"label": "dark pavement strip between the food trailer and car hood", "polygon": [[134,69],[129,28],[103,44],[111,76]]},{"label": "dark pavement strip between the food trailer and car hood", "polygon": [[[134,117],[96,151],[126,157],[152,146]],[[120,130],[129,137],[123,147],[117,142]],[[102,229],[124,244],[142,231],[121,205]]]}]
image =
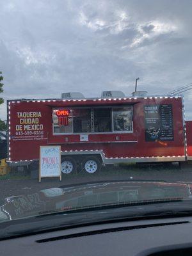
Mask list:
[{"label": "dark pavement strip between the food trailer and car hood", "polygon": [[131,164],[110,165],[103,167],[98,173],[70,173],[59,178],[31,179],[30,175],[17,173],[7,177],[0,177],[1,196],[3,200],[8,196],[27,195],[47,188],[58,188],[84,182],[98,182],[108,180],[150,180],[164,182],[192,182],[192,164]]}]

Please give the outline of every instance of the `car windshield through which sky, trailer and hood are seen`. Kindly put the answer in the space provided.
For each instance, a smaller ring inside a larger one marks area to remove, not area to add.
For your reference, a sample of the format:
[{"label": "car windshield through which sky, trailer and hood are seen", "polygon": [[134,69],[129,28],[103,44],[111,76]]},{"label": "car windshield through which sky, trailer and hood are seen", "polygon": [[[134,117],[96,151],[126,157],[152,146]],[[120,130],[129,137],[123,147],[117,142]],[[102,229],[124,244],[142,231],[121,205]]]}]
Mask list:
[{"label": "car windshield through which sky, trailer and hood are seen", "polygon": [[1,225],[191,211],[191,8],[2,1]]}]

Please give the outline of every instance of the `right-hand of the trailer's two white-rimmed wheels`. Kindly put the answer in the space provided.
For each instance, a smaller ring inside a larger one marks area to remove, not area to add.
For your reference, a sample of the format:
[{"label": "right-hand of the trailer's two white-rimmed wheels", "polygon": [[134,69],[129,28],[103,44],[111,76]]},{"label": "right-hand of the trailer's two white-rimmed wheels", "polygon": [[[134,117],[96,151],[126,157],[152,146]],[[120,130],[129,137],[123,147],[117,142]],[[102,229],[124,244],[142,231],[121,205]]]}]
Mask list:
[{"label": "right-hand of the trailer's two white-rimmed wheels", "polygon": [[97,157],[90,156],[84,159],[82,167],[88,173],[95,173],[99,172],[101,168],[101,163]]}]

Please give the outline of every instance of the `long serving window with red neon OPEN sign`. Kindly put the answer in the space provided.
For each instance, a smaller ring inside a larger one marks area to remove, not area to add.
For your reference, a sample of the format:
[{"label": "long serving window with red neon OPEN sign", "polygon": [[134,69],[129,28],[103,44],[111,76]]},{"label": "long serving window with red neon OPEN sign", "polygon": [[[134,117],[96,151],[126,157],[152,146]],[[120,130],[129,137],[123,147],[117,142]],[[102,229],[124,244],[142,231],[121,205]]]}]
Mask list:
[{"label": "long serving window with red neon OPEN sign", "polygon": [[54,134],[132,132],[132,106],[52,109]]}]

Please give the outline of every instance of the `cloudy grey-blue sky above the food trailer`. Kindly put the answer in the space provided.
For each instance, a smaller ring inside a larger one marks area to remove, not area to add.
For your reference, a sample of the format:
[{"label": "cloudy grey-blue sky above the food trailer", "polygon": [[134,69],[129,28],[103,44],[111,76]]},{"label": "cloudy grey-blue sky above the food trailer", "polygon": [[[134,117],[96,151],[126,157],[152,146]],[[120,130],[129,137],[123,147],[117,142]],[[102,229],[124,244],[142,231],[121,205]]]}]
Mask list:
[{"label": "cloudy grey-blue sky above the food trailer", "polygon": [[[192,83],[191,0],[0,0],[4,99]],[[185,93],[192,120],[192,90]],[[5,104],[0,118],[6,119]]]}]

